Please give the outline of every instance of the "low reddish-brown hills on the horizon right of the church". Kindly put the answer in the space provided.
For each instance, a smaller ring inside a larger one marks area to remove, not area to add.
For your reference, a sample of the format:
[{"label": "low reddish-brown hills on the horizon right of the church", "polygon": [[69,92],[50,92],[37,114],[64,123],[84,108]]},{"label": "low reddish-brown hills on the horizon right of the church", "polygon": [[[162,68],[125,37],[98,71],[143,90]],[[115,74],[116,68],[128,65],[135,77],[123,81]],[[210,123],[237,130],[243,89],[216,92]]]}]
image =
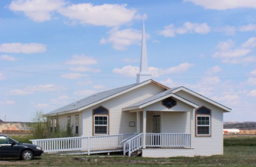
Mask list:
[{"label": "low reddish-brown hills on the horizon right of the church", "polygon": [[256,130],[256,122],[224,122],[224,129]]}]

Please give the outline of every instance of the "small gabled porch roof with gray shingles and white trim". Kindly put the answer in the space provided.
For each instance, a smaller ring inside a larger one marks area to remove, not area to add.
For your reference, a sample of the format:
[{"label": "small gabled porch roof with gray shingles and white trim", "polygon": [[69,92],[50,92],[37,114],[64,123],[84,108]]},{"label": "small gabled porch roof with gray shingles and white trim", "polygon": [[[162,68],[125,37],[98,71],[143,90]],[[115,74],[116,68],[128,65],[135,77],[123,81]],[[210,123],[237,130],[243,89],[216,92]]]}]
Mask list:
[{"label": "small gabled porch roof with gray shingles and white trim", "polygon": [[[179,88],[179,87],[177,87]],[[161,101],[167,97],[174,97],[180,101],[182,101],[183,103],[186,103],[194,108],[198,108],[199,106],[183,97],[180,97],[174,93],[172,93],[173,90],[177,89],[177,88],[171,88],[169,90],[166,90],[166,91],[163,91],[159,94],[156,94],[154,96],[151,96],[149,98],[146,98],[142,101],[139,101],[137,103],[134,103],[130,106],[127,106],[125,108],[123,108],[123,111],[130,111],[130,110],[137,110],[137,109],[140,109],[140,108],[143,108],[143,107],[146,107],[146,106],[149,106],[150,104],[153,104],[153,103],[156,103],[157,101]]]}]

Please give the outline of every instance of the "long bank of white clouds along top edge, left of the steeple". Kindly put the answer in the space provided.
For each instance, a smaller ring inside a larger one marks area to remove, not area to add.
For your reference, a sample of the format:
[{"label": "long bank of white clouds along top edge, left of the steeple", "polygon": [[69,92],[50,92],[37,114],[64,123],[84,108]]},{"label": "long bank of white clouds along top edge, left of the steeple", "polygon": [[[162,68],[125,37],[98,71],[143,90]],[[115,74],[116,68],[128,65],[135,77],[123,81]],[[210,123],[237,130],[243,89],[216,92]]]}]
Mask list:
[{"label": "long bank of white clouds along top edge, left of the steeple", "polygon": [[[127,4],[78,3],[69,5],[64,0],[13,0],[9,9],[23,12],[25,16],[36,22],[51,20],[53,13],[59,13],[69,18],[71,24],[79,22],[107,27],[130,23],[136,17],[136,10],[128,9]],[[67,24],[67,21],[64,22]]]}]

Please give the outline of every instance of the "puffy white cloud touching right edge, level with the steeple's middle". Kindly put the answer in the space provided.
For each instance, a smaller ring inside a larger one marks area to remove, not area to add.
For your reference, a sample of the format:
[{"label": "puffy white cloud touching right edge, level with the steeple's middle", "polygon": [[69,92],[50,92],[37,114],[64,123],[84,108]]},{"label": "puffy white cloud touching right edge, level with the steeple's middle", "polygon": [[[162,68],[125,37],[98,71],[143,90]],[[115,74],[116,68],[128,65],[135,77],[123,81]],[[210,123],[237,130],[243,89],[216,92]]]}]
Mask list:
[{"label": "puffy white cloud touching right edge, level with the steeple's middle", "polygon": [[212,57],[220,58],[222,63],[227,64],[243,63],[246,65],[256,62],[255,56],[248,56],[248,54],[252,51],[249,48],[256,47],[255,40],[256,38],[252,37],[236,48],[234,48],[235,43],[232,40],[219,42],[216,47],[217,51],[212,55]]}]

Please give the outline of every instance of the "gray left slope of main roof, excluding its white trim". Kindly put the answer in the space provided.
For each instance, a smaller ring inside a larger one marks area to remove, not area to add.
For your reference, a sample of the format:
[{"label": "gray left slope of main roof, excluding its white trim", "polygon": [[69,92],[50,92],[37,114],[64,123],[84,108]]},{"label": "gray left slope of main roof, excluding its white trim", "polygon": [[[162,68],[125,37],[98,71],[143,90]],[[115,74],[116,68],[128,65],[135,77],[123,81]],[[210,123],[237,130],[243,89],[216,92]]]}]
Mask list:
[{"label": "gray left slope of main roof, excluding its white trim", "polygon": [[[139,84],[142,84],[142,83],[139,83]],[[95,96],[95,94],[93,94],[91,96],[88,96],[86,98],[81,99],[80,102],[76,101],[76,105],[74,105],[74,103],[71,103],[71,104],[68,104],[64,107],[58,108],[57,110],[51,111],[50,113],[47,113],[46,115],[61,113],[61,112],[64,112],[64,111],[77,110],[81,107],[84,107],[84,106],[87,106],[89,104],[95,103],[99,100],[102,100],[106,97],[112,96],[112,95],[114,95],[116,93],[119,93],[121,91],[124,91],[126,89],[132,88],[132,87],[134,87],[136,85],[139,85],[139,84],[131,84],[131,85],[115,88],[115,89],[112,89],[112,90],[103,91],[103,92],[97,93],[96,96]]]}]

